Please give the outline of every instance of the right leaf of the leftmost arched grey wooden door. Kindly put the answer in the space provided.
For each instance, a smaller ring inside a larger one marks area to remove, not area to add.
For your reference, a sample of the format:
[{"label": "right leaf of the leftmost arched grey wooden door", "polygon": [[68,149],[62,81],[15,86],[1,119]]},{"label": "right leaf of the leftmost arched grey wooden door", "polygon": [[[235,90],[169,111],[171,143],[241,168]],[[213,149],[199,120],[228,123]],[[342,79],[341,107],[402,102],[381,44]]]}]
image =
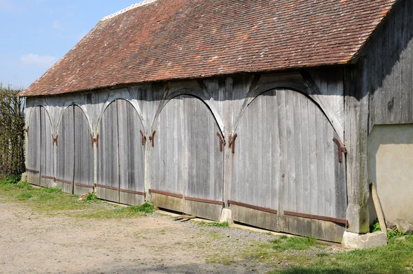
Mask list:
[{"label": "right leaf of the leftmost arched grey wooden door", "polygon": [[41,157],[40,157],[40,186],[54,186],[54,160],[53,160],[53,137],[52,124],[49,114],[44,107],[40,107],[40,139],[41,139]]}]

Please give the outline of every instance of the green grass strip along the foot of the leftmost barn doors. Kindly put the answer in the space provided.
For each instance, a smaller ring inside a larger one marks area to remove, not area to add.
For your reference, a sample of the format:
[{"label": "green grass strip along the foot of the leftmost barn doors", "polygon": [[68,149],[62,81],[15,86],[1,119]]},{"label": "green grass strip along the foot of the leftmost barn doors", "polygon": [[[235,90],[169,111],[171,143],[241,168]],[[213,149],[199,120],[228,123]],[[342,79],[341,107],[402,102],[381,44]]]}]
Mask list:
[{"label": "green grass strip along the foot of the leftmost barn doors", "polygon": [[84,200],[63,193],[56,188],[32,187],[28,182],[19,182],[18,176],[0,180],[0,196],[6,201],[22,203],[33,211],[45,215],[63,214],[76,218],[110,219],[138,218],[153,212],[151,204],[135,207],[122,207],[100,201],[94,193]]}]

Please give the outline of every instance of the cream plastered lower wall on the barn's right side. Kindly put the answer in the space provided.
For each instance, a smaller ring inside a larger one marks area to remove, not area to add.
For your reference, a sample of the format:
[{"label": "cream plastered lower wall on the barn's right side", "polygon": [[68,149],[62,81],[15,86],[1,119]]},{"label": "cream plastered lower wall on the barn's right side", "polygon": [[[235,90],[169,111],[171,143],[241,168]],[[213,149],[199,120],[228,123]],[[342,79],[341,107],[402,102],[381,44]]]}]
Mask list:
[{"label": "cream plastered lower wall on the barn's right side", "polygon": [[[369,181],[386,220],[413,222],[413,124],[375,125],[368,138]],[[376,218],[370,199],[370,222]]]}]

